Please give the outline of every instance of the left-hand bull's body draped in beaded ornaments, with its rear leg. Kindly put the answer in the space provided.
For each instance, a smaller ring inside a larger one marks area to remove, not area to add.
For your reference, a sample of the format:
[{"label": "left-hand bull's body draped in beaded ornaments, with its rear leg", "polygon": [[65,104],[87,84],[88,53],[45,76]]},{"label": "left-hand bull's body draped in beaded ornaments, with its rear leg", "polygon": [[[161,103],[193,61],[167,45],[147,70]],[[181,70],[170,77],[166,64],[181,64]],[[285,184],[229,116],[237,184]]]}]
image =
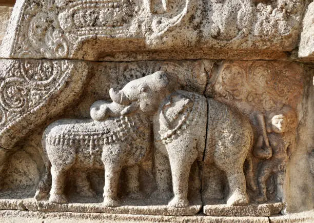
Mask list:
[{"label": "left-hand bull's body draped in beaded ornaments, with its rear leg", "polygon": [[139,113],[106,121],[62,119],[49,125],[43,146],[51,163],[50,200],[66,202],[64,179],[70,168],[105,167],[108,183],[117,184],[116,171],[138,165],[149,152],[150,128],[147,117]]}]

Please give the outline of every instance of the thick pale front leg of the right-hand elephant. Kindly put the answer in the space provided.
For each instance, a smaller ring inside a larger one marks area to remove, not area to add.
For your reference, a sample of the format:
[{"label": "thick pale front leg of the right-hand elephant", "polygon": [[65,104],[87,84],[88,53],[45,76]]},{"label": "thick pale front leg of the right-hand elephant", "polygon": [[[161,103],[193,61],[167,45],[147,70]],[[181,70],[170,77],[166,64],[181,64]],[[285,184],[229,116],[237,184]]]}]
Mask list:
[{"label": "thick pale front leg of the right-hand elephant", "polygon": [[181,151],[176,148],[177,146],[170,148],[171,152],[169,152],[174,193],[174,197],[169,202],[169,206],[184,208],[189,205],[187,198],[189,175],[191,166],[197,158],[197,151],[193,148],[193,145],[187,145],[183,147]]}]

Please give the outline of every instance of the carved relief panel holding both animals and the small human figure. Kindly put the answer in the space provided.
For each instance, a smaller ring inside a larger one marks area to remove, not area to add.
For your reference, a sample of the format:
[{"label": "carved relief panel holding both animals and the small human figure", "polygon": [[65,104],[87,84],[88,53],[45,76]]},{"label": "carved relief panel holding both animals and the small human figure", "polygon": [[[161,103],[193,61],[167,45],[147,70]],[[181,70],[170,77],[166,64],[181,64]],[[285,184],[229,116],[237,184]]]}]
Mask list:
[{"label": "carved relief panel holding both animals and the small human figure", "polygon": [[204,205],[205,214],[216,216],[270,216],[283,208],[286,165],[298,150],[300,65],[85,64],[84,88],[60,105],[62,113],[49,113],[46,105],[51,118],[29,127],[16,144],[38,167],[36,194],[34,185],[25,188],[40,201],[18,193],[10,201],[6,192],[1,207],[193,215]]}]

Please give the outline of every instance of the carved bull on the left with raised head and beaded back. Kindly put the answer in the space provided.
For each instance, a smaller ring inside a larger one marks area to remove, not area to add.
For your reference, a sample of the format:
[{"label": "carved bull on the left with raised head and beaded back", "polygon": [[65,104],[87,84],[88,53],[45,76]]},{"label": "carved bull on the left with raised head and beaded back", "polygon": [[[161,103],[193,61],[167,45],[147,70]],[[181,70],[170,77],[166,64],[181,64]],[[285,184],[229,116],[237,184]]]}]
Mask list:
[{"label": "carved bull on the left with raised head and beaded back", "polygon": [[[133,85],[136,83],[146,83],[153,100],[162,95],[161,92],[168,85],[168,78],[163,73],[156,73],[133,80],[125,88],[129,86],[130,90],[134,90]],[[145,93],[147,86],[140,87],[140,91]],[[117,94],[112,89],[111,95],[116,99]],[[151,143],[150,119],[144,112],[152,106],[142,100],[139,104],[142,109],[131,109],[130,106],[122,105],[125,100],[121,97],[119,103],[94,103],[90,110],[94,119],[62,119],[47,127],[42,139],[48,157],[46,176],[38,187],[36,199],[47,196],[50,172],[52,182],[49,200],[64,203],[67,201],[64,195],[65,177],[70,168],[105,168],[104,204],[119,205],[117,184],[121,169],[140,164]]]}]

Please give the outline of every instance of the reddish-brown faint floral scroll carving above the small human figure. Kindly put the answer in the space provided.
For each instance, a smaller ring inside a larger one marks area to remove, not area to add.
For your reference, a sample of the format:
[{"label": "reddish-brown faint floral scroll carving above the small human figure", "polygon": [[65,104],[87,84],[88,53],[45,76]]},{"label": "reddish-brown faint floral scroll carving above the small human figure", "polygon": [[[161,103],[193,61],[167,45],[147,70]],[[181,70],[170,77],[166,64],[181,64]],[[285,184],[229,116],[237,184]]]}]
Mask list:
[{"label": "reddish-brown faint floral scroll carving above the small human figure", "polygon": [[302,68],[274,62],[230,62],[222,65],[215,84],[218,97],[243,102],[261,112],[296,108],[302,94]]}]

